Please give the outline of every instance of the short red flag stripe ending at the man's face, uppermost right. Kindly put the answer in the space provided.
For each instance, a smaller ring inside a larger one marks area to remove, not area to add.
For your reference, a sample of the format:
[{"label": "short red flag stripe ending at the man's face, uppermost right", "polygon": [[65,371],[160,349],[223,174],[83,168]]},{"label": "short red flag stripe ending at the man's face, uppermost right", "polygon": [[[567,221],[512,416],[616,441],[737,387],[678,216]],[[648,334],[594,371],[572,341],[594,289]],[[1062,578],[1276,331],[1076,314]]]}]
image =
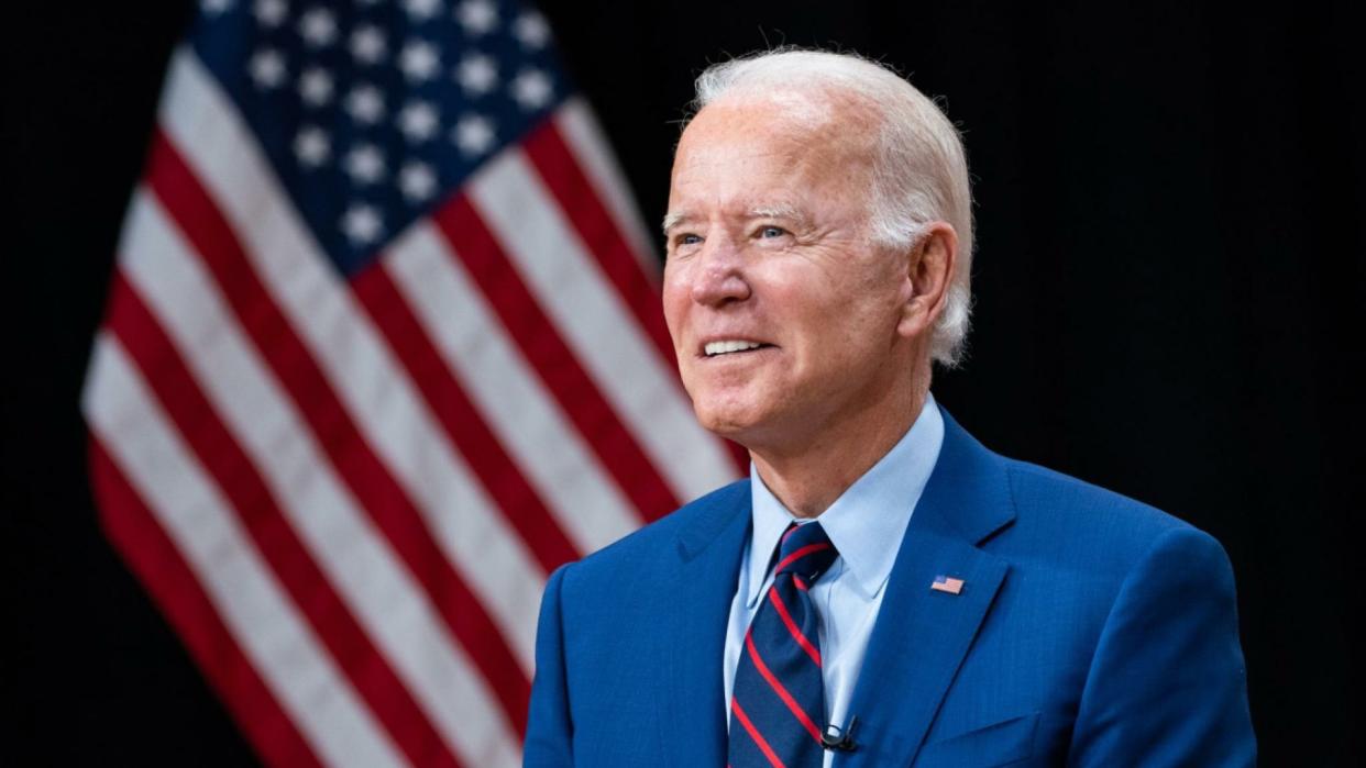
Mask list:
[{"label": "short red flag stripe ending at the man's face, uppermost right", "polygon": [[602,267],[602,274],[635,314],[637,322],[654,342],[665,364],[672,367],[673,341],[664,325],[660,293],[631,254],[631,246],[602,205],[578,158],[564,143],[555,120],[546,119],[527,134],[522,147],[564,210],[566,218],[578,231],[586,250]]}]

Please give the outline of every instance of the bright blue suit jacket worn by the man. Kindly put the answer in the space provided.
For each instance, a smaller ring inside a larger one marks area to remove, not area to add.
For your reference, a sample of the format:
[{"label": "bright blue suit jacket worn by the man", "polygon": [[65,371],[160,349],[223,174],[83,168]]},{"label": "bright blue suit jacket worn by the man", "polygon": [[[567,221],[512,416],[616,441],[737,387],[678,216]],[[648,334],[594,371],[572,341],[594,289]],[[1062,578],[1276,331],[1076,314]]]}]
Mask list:
[{"label": "bright blue suit jacket worn by the man", "polygon": [[[835,765],[1253,765],[1233,574],[1209,535],[990,453],[944,415]],[[526,765],[721,767],[749,482],[555,572]],[[962,593],[932,591],[936,576]]]}]

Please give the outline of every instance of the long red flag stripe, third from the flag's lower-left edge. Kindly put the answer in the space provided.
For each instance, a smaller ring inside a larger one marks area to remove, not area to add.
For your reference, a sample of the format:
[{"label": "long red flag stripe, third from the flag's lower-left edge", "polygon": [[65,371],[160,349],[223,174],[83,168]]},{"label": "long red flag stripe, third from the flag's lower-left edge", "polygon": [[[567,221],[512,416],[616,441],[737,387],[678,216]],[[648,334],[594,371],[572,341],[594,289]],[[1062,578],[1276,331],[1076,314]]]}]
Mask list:
[{"label": "long red flag stripe, third from the flag's lower-left edge", "polygon": [[146,181],[213,273],[238,322],[307,420],[337,476],[422,584],[499,697],[508,722],[519,734],[526,733],[531,683],[507,638],[437,548],[413,501],[361,435],[326,375],[261,284],[236,233],[160,131],[152,143]]}]

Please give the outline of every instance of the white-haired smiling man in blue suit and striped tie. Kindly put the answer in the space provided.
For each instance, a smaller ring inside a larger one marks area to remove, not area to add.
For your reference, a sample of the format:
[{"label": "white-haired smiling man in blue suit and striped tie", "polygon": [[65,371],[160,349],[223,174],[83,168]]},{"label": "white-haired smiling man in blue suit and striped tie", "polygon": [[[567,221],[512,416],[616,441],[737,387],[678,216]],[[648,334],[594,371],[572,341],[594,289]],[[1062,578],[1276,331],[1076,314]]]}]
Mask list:
[{"label": "white-haired smiling man in blue suit and striped tie", "polygon": [[747,480],[557,570],[527,765],[1251,765],[1208,535],[990,453],[930,396],[973,252],[956,131],[895,72],[708,70],[664,310]]}]

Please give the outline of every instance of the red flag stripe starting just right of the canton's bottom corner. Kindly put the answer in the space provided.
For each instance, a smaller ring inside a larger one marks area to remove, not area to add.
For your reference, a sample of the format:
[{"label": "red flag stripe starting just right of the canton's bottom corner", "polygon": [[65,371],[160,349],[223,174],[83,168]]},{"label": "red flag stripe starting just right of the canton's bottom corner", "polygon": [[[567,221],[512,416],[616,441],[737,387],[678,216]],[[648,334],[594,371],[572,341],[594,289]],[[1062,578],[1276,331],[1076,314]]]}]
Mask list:
[{"label": "red flag stripe starting just right of the canton's bottom corner", "polygon": [[380,263],[376,262],[352,277],[351,288],[403,361],[428,407],[445,427],[447,435],[479,476],[489,495],[497,501],[503,517],[531,547],[545,572],[578,559],[579,552],[564,529],[485,424]]}]

